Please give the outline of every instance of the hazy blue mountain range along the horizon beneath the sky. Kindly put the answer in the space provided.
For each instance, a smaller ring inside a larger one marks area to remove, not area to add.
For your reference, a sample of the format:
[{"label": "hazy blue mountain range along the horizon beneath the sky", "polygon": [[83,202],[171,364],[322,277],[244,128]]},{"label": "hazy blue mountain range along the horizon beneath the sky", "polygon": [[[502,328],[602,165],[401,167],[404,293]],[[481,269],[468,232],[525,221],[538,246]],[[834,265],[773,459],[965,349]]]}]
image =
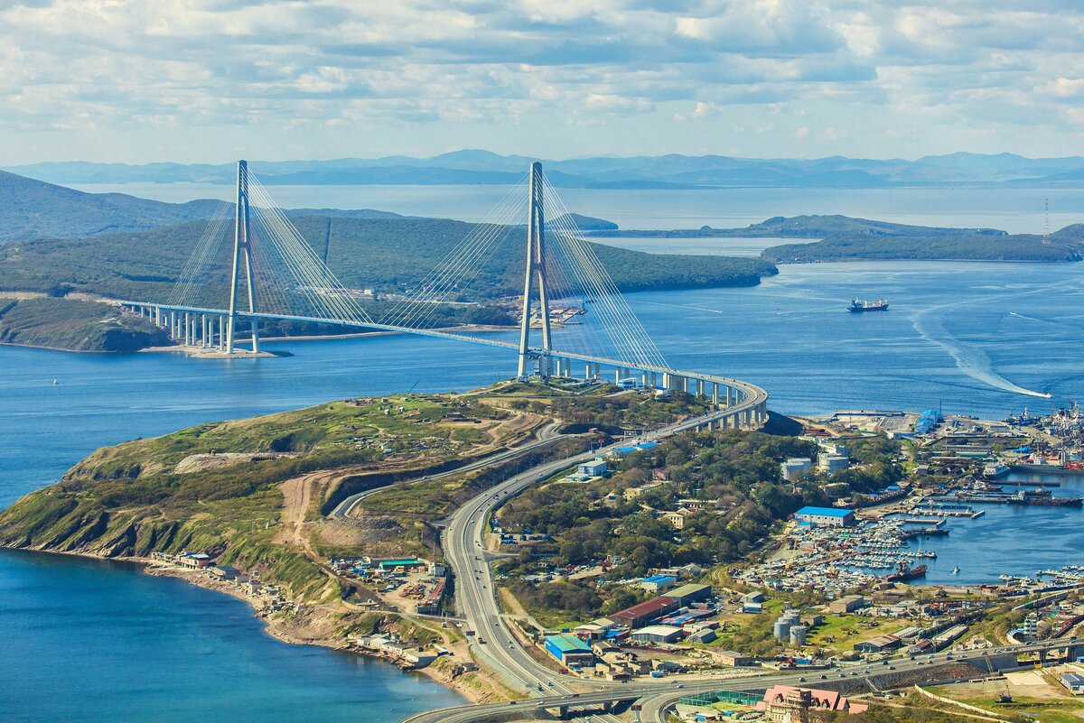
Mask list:
[{"label": "hazy blue mountain range along the horizon beneath the sky", "polygon": [[[519,181],[535,159],[488,150],[429,158],[387,156],[336,160],[249,161],[270,185],[500,185]],[[1025,158],[955,153],[917,160],[831,156],[759,159],[728,156],[633,156],[543,160],[550,181],[566,188],[697,188],[704,186],[879,187],[941,184],[1080,185],[1084,156]],[[234,163],[34,163],[8,171],[50,183],[232,184]]]}]

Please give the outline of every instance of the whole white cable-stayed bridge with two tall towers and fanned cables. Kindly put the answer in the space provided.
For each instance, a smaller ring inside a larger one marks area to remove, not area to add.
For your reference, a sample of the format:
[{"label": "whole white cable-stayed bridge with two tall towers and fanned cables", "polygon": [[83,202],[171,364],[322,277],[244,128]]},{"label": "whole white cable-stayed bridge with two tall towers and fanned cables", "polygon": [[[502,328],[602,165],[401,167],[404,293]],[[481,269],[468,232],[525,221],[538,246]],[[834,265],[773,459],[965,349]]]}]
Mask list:
[{"label": "whole white cable-stayed bridge with two tall towers and fanned cables", "polygon": [[[521,255],[509,257],[517,247]],[[507,286],[515,271],[507,259],[516,257],[524,264],[522,295],[515,304],[519,343],[470,327],[449,328],[449,310],[470,307]],[[431,271],[401,293],[383,295],[376,303],[375,294],[341,284],[238,161],[235,202],[223,203],[208,221],[166,301],[121,303],[185,345],[227,355],[249,353],[238,341],[258,353],[261,321],[413,333],[507,349],[517,355],[520,379],[572,377],[573,365],[583,378],[598,379],[605,368],[615,381],[710,397],[723,426],[753,428],[766,420],[767,393],[759,386],[669,366],[541,163],[532,163]]]}]

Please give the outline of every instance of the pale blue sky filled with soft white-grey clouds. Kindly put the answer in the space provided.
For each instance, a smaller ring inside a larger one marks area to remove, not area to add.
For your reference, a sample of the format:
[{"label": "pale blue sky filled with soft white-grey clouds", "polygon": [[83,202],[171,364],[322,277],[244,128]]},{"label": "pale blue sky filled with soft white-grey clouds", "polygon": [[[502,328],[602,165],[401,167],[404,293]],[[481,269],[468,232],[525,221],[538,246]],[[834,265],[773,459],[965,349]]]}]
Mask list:
[{"label": "pale blue sky filled with soft white-grey clouds", "polygon": [[1079,0],[0,0],[0,166],[1084,154]]}]

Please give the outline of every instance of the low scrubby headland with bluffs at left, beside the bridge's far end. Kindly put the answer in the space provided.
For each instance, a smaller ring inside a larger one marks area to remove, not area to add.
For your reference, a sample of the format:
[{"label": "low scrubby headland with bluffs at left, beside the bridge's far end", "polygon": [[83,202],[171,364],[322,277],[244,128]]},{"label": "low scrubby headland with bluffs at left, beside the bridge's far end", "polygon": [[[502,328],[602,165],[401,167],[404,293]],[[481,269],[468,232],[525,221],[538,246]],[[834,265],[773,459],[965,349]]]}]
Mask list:
[{"label": "low scrubby headland with bluffs at left, beside the bridge's far end", "polygon": [[73,352],[138,352],[172,342],[150,319],[73,299],[0,299],[0,343]]}]

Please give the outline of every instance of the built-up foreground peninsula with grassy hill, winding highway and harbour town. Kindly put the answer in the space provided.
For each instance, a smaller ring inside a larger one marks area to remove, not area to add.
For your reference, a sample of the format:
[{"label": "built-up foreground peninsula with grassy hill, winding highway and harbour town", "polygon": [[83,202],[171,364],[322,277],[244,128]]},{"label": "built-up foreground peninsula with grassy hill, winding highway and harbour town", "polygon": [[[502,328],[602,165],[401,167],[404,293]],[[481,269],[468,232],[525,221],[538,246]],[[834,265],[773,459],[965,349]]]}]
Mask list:
[{"label": "built-up foreground peninsula with grassy hill, winding highway and harbour town", "polygon": [[[0,544],[133,560],[237,596],[270,634],[422,671],[477,720],[525,698],[489,648],[526,656],[542,675],[526,693],[552,706],[598,689],[629,702],[640,688],[605,686],[673,678],[695,687],[663,694],[688,720],[786,714],[812,689],[888,721],[951,720],[966,681],[1074,649],[1079,569],[922,587],[935,553],[908,544],[945,534],[939,509],[966,524],[972,505],[1056,499],[982,488],[983,460],[957,452],[966,435],[1024,465],[1021,439],[1075,444],[1056,416],[773,415],[647,439],[709,410],[674,390],[535,378],[202,424],[95,451],[0,512]],[[854,697],[872,686],[905,696]],[[1059,705],[1043,697],[1028,710]]]}]

